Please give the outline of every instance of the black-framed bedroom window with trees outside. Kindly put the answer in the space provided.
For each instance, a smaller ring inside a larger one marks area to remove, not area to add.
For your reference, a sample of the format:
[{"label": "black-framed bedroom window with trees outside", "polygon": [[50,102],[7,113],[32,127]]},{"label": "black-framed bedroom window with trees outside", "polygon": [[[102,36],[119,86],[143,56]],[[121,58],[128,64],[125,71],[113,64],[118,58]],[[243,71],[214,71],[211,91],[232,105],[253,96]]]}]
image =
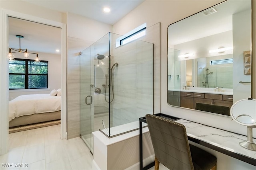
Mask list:
[{"label": "black-framed bedroom window with trees outside", "polygon": [[48,61],[9,61],[9,89],[48,88]]}]

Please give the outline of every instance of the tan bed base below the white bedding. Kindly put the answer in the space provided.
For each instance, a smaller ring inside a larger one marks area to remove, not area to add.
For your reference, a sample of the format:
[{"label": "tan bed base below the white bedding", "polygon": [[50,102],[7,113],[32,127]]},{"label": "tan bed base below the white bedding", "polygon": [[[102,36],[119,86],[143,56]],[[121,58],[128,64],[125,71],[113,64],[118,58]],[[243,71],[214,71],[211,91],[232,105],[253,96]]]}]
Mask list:
[{"label": "tan bed base below the white bedding", "polygon": [[29,125],[33,123],[41,123],[45,121],[59,120],[60,111],[50,112],[50,113],[38,113],[33,115],[26,115],[16,117],[9,121],[9,127]]}]

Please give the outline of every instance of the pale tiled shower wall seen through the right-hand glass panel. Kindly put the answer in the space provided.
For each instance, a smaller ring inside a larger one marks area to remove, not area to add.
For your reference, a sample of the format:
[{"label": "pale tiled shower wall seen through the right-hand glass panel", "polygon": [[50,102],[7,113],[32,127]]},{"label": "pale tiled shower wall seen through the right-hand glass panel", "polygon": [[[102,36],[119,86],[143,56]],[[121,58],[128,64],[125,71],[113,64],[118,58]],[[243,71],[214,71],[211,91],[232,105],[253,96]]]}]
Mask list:
[{"label": "pale tiled shower wall seen through the right-hand glass panel", "polygon": [[110,124],[114,127],[153,113],[154,45],[136,40],[111,47],[111,66],[118,63],[112,70],[114,101]]}]

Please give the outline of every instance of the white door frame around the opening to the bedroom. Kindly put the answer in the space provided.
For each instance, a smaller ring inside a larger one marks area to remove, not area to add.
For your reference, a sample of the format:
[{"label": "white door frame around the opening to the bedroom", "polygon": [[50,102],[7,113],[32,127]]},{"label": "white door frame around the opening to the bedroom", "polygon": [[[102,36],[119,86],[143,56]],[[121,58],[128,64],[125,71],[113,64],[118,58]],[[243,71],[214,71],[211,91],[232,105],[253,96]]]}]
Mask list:
[{"label": "white door frame around the opening to the bedroom", "polygon": [[20,18],[46,25],[61,28],[61,139],[67,139],[67,25],[57,21],[47,20],[20,12],[0,8],[0,155],[8,152],[8,101],[9,101],[9,76],[8,76],[8,17]]}]

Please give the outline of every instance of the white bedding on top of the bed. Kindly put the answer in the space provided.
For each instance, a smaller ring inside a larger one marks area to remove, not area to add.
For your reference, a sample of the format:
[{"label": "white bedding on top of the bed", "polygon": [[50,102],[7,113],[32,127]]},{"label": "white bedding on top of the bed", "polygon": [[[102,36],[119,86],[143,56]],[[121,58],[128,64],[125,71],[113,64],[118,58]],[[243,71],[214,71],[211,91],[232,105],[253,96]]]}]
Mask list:
[{"label": "white bedding on top of the bed", "polygon": [[60,110],[61,96],[30,94],[18,96],[9,102],[9,121],[15,117]]}]

